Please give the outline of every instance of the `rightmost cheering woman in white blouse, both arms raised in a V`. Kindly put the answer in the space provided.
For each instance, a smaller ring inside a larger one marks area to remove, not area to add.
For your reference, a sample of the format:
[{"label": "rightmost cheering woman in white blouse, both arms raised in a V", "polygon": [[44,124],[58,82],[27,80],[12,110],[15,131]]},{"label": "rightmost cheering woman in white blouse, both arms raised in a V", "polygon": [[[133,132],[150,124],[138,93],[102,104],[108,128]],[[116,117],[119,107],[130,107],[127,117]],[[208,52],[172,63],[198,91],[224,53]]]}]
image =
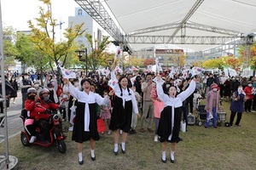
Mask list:
[{"label": "rightmost cheering woman in white blouse, both arms raised in a V", "polygon": [[[198,80],[197,80],[198,81]],[[160,77],[156,82],[156,90],[160,100],[165,103],[165,108],[160,115],[158,135],[162,143],[162,162],[166,163],[166,147],[168,142],[172,144],[171,162],[174,163],[174,151],[179,141],[180,122],[182,116],[183,101],[195,91],[195,78],[189,83],[189,88],[177,95],[177,88],[170,86],[168,94],[164,94]]]}]

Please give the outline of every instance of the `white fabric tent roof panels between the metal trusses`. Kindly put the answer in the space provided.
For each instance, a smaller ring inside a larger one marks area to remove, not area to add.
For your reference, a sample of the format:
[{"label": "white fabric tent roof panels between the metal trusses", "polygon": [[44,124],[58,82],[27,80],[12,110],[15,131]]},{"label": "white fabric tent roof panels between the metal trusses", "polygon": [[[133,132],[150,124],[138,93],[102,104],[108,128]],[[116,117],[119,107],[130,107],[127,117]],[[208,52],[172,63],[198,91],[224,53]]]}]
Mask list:
[{"label": "white fabric tent roof panels between the metal trusses", "polygon": [[[181,22],[189,14],[196,0],[105,0],[115,19],[126,34],[153,26]],[[244,34],[256,32],[255,0],[204,0],[188,22],[213,26]],[[154,31],[142,35],[172,36],[173,31]],[[180,31],[176,36],[180,36]],[[228,36],[209,31],[186,28],[186,36]],[[131,44],[135,50],[153,47],[154,44]],[[180,47],[195,51],[212,45],[185,45]]]}]

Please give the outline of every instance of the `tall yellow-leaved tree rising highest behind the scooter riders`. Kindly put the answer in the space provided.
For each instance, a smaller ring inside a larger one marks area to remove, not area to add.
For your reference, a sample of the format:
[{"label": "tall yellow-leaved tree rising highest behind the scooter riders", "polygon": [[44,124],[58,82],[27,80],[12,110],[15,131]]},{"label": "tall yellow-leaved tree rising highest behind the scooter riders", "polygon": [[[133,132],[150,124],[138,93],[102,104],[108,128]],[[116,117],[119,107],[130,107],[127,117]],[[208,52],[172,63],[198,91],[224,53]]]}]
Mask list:
[{"label": "tall yellow-leaved tree rising highest behind the scooter riders", "polygon": [[[47,60],[52,71],[55,71],[54,65],[66,65],[69,58],[77,57],[74,51],[78,48],[74,42],[76,37],[81,36],[83,24],[73,26],[71,25],[63,32],[67,41],[55,42],[55,27],[57,26],[56,20],[52,17],[51,1],[40,0],[46,6],[46,9],[39,7],[39,17],[35,20],[37,25],[32,24],[32,20],[28,21],[29,27],[32,30],[31,41],[34,43],[34,48],[38,54],[42,54]],[[61,70],[57,67],[57,75],[61,75]],[[60,77],[58,77],[60,82]]]}]

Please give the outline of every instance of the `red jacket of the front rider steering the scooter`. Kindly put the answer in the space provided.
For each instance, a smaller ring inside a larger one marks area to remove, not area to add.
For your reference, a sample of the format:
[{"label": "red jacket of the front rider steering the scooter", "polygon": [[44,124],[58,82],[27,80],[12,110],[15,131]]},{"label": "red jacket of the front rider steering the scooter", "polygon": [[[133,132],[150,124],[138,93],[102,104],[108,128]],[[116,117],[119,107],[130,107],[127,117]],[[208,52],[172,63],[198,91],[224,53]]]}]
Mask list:
[{"label": "red jacket of the front rider steering the scooter", "polygon": [[55,109],[59,109],[60,105],[57,105],[55,103],[50,102],[50,100],[48,100],[47,102],[44,102],[42,99],[38,99],[36,102],[36,106],[35,106],[35,111],[37,111],[37,114],[35,116],[36,121],[38,121],[39,119],[45,119],[48,120],[50,117],[49,113],[45,113],[45,110],[55,110]]}]

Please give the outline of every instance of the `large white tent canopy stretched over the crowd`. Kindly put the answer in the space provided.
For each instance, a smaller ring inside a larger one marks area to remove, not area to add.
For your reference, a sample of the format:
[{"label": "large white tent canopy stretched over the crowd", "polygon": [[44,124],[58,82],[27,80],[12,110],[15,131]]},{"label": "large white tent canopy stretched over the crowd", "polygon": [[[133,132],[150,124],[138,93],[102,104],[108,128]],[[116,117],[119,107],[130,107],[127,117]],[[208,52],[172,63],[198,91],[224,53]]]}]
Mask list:
[{"label": "large white tent canopy stretched over the crowd", "polygon": [[[75,1],[80,3],[83,0]],[[84,2],[96,4],[96,0],[84,0]],[[172,42],[172,36],[240,37],[256,32],[255,0],[102,0],[100,2],[108,7],[109,15],[113,16],[117,21],[116,25],[125,35],[136,32],[136,36],[167,36],[168,42]],[[87,8],[86,5],[84,6]],[[165,28],[166,25],[170,27]],[[153,46],[154,43],[131,43],[134,50]],[[184,43],[178,46],[199,51],[217,45]]]}]

